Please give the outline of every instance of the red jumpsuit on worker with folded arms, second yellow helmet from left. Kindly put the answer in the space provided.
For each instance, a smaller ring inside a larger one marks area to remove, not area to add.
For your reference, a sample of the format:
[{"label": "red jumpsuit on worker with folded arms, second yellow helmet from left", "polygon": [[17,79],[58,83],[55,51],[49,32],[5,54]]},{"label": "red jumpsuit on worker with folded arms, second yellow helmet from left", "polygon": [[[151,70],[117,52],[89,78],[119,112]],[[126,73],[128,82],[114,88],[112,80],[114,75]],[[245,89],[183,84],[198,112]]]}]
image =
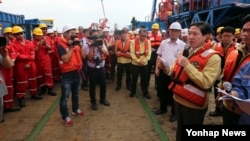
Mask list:
[{"label": "red jumpsuit on worker with folded arms, second yellow helmet from left", "polygon": [[[37,95],[37,80],[34,45],[29,40],[25,40],[24,44],[15,40],[13,47],[17,53],[14,66],[17,98],[22,99],[25,96],[28,86],[30,95],[35,96]],[[25,68],[27,65],[30,67]]]}]

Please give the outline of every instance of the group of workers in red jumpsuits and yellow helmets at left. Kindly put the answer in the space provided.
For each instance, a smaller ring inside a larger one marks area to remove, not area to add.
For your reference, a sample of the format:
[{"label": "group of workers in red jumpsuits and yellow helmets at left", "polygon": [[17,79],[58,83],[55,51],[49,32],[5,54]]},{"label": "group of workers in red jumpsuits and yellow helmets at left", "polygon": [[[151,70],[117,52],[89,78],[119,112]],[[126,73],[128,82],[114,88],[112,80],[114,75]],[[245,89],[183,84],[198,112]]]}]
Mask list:
[{"label": "group of workers in red jumpsuits and yellow helmets at left", "polygon": [[[20,111],[25,104],[28,92],[33,100],[41,100],[44,93],[56,96],[53,90],[54,82],[59,81],[59,64],[56,53],[56,43],[47,33],[47,25],[40,24],[33,30],[33,40],[27,40],[24,29],[20,26],[6,27],[4,46],[13,67],[1,67],[8,93],[3,97],[4,112]],[[55,65],[56,62],[56,65]],[[53,78],[54,76],[54,78]],[[57,77],[57,78],[56,78]],[[18,106],[14,104],[14,96]]]}]

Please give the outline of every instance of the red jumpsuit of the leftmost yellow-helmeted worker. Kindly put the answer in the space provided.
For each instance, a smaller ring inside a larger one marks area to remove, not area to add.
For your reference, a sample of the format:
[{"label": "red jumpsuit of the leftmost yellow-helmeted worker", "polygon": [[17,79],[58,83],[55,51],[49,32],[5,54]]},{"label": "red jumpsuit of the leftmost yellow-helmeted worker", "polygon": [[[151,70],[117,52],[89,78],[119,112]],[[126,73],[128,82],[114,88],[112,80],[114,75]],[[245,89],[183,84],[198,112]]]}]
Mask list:
[{"label": "red jumpsuit of the leftmost yellow-helmeted worker", "polygon": [[[15,60],[16,52],[11,44],[7,45],[6,49],[8,50],[10,59]],[[6,69],[1,67],[1,71],[3,73],[5,84],[8,89],[8,94],[3,97],[4,109],[9,109],[14,105],[13,68]]]}]

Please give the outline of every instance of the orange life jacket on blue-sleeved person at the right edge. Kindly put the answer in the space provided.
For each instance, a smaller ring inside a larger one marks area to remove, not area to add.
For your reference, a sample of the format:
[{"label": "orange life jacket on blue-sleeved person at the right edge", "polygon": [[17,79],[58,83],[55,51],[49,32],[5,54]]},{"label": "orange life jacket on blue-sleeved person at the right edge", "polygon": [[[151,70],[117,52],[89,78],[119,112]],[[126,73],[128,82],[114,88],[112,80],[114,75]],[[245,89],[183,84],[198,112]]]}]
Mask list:
[{"label": "orange life jacket on blue-sleeved person at the right edge", "polygon": [[[232,82],[239,70],[250,61],[250,55],[244,56],[243,50],[234,50],[229,55],[224,67],[224,81]],[[232,100],[224,100],[224,106],[231,112],[240,115],[241,109]]]}]

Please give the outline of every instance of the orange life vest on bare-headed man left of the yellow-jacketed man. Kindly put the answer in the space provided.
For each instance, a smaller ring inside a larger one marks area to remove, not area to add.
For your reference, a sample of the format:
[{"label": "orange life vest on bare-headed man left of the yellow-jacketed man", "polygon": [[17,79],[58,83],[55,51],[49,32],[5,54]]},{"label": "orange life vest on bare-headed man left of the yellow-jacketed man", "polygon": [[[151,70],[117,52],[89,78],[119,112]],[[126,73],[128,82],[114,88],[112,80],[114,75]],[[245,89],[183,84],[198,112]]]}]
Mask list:
[{"label": "orange life vest on bare-headed man left of the yellow-jacketed man", "polygon": [[125,58],[131,58],[130,56],[130,40],[126,40],[125,41],[125,45],[123,47],[123,42],[122,40],[118,40],[116,42],[116,50],[117,50],[117,53],[116,53],[116,56],[117,57],[125,57]]}]

